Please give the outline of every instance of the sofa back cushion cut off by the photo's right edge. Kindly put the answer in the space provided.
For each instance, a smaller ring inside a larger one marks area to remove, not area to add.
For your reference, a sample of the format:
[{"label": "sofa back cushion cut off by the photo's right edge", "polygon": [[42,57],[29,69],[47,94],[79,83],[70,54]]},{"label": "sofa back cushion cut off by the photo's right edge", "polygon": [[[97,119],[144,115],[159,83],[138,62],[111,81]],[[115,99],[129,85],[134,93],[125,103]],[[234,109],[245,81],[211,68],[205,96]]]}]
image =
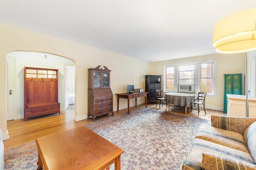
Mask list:
[{"label": "sofa back cushion cut off by the photo's right edge", "polygon": [[247,142],[247,147],[252,154],[252,158],[256,160],[256,122],[252,123],[244,131],[244,139]]}]

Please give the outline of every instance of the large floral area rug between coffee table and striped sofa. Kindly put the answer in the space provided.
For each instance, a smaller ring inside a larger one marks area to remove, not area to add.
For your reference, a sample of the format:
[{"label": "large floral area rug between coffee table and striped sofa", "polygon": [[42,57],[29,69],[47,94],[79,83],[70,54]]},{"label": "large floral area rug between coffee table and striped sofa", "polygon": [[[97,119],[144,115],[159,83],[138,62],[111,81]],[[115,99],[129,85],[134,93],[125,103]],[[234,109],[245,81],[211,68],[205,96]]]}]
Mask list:
[{"label": "large floral area rug between coffee table and striped sofa", "polygon": [[86,127],[124,150],[122,170],[180,170],[202,122],[210,123],[142,108]]}]

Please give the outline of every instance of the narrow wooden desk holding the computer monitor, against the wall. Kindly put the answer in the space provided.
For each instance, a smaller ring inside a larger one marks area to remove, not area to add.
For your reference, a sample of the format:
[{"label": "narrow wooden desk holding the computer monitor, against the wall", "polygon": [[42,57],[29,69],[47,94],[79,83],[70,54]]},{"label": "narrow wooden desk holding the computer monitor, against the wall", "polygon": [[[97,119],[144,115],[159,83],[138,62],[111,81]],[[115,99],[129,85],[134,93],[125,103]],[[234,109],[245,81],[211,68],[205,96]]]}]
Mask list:
[{"label": "narrow wooden desk holding the computer monitor, against the wall", "polygon": [[145,97],[145,104],[147,107],[147,94],[148,92],[143,92],[143,93],[118,93],[117,95],[117,111],[119,110],[119,98],[124,98],[128,99],[128,114],[130,113],[130,99],[135,98],[135,104],[137,106],[137,98]]}]

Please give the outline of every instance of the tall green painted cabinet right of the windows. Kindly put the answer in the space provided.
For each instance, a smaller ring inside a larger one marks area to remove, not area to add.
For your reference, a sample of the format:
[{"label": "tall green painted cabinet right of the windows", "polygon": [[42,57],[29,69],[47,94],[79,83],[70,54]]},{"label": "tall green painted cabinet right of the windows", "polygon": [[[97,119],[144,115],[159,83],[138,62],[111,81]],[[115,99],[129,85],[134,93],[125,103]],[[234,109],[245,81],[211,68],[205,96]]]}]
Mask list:
[{"label": "tall green painted cabinet right of the windows", "polygon": [[223,109],[223,113],[227,113],[227,108],[228,108],[227,94],[242,95],[242,73],[240,73],[240,74],[224,74],[224,109]]}]

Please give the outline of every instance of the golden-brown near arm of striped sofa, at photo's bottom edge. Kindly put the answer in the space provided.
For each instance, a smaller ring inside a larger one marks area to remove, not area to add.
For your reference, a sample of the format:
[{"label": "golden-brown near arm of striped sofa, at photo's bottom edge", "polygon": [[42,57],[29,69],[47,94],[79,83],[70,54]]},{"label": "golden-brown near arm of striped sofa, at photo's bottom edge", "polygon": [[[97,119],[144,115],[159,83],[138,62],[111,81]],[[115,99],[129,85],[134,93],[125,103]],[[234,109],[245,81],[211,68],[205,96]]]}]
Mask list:
[{"label": "golden-brown near arm of striped sofa, at photo's bottom edge", "polygon": [[203,153],[203,170],[255,170],[256,165],[229,159],[220,155]]}]

